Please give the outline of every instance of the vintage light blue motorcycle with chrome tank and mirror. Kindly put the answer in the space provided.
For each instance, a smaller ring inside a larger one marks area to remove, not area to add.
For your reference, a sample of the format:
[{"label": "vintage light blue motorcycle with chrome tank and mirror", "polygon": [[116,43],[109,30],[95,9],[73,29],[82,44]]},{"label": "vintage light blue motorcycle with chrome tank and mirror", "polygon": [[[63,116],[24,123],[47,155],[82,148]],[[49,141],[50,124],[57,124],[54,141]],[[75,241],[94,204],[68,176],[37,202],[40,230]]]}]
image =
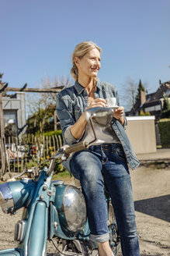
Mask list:
[{"label": "vintage light blue motorcycle with chrome tank and mirror", "polygon": [[[47,240],[54,244],[53,255],[98,255],[97,244],[89,239],[90,229],[86,214],[85,198],[81,187],[64,184],[62,180],[52,181],[54,165],[76,151],[88,148],[98,139],[95,126],[106,126],[113,118],[111,108],[90,108],[86,119],[92,127],[91,141],[62,147],[50,159],[50,166],[36,170],[34,179],[21,178],[0,185],[0,206],[5,213],[15,213],[23,208],[23,219],[15,226],[15,240],[18,247],[0,251],[0,256],[42,256],[47,255]],[[99,141],[98,141],[99,142]],[[25,171],[26,172],[26,171]],[[25,173],[24,172],[24,173]],[[23,173],[20,174],[22,176]],[[116,255],[120,247],[111,199],[106,191],[110,246]]]}]

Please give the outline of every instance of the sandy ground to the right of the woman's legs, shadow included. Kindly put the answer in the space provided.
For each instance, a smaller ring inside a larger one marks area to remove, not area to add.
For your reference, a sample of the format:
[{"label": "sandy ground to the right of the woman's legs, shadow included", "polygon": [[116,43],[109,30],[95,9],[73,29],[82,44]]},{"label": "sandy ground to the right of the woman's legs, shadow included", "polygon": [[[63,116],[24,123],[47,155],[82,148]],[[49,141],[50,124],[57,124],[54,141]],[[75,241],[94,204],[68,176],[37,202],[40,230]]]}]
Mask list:
[{"label": "sandy ground to the right of the woman's legs, shadow included", "polygon": [[[130,176],[141,256],[169,256],[170,148],[137,157],[141,167]],[[121,251],[118,256],[122,256]]]}]

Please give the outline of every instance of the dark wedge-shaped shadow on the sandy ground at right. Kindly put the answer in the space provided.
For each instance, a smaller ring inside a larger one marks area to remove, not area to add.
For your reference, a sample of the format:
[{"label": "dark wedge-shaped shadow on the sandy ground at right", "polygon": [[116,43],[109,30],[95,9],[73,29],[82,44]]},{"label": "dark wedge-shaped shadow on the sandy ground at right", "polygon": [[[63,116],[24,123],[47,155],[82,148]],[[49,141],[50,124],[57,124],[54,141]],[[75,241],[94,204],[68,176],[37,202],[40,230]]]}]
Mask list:
[{"label": "dark wedge-shaped shadow on the sandy ground at right", "polygon": [[135,211],[170,222],[170,194],[134,202]]}]

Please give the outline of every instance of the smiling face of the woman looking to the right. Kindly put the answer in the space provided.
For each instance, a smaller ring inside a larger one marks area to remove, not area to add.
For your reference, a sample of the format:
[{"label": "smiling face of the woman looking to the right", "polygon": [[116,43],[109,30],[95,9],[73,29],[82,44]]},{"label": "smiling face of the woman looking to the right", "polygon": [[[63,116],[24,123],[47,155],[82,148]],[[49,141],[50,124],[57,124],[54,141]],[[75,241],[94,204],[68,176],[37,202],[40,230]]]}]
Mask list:
[{"label": "smiling face of the woman looking to the right", "polygon": [[78,68],[78,77],[86,76],[88,78],[96,77],[100,69],[100,52],[93,48],[81,59],[75,57],[75,65]]}]

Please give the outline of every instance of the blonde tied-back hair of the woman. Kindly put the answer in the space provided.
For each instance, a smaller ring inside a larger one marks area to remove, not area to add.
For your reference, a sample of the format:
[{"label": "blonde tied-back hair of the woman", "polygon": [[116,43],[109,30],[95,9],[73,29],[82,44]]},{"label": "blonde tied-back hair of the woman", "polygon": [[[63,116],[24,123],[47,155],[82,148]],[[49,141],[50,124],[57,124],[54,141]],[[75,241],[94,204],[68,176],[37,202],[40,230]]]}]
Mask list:
[{"label": "blonde tied-back hair of the woman", "polygon": [[99,48],[99,46],[95,43],[93,43],[92,41],[83,41],[80,44],[77,44],[75,46],[75,50],[72,54],[72,68],[71,68],[71,76],[73,76],[74,80],[78,80],[78,68],[75,65],[75,57],[78,57],[78,59],[82,59],[86,53],[88,53],[89,51],[91,51],[92,49],[98,49],[99,52],[101,53],[101,48]]}]

